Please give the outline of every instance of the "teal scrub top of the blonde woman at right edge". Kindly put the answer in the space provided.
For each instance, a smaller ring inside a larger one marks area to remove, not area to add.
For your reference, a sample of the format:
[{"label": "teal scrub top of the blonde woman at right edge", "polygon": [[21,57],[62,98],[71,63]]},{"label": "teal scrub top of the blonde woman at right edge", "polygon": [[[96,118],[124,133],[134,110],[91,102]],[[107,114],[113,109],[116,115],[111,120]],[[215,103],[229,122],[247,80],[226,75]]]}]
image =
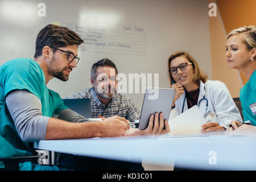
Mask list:
[{"label": "teal scrub top of the blonde woman at right edge", "polygon": [[256,71],[251,75],[250,80],[240,90],[240,100],[243,109],[243,120],[250,120],[253,126],[256,126],[256,114],[250,106],[256,104]]}]

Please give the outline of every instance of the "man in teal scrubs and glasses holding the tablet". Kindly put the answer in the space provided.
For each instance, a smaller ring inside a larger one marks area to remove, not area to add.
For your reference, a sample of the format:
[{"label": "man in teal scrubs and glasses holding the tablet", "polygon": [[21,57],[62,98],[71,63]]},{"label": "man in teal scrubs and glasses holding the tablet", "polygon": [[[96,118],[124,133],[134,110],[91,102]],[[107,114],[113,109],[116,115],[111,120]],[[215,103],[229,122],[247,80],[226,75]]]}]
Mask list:
[{"label": "man in teal scrubs and glasses holding the tablet", "polygon": [[[162,114],[159,117],[155,114],[155,119],[152,115],[146,130],[130,129],[129,121],[118,116],[106,118],[104,122],[86,122],[86,118],[63,104],[59,94],[47,88],[53,77],[68,80],[69,73],[79,61],[77,48],[82,42],[74,31],[49,24],[36,38],[34,59],[15,59],[1,65],[0,149],[7,151],[5,156],[31,155],[34,151],[29,143],[38,140],[164,134],[170,131]],[[65,121],[60,118],[65,118]],[[159,125],[153,126],[153,122]],[[61,168],[25,162],[20,163],[20,169]]]}]

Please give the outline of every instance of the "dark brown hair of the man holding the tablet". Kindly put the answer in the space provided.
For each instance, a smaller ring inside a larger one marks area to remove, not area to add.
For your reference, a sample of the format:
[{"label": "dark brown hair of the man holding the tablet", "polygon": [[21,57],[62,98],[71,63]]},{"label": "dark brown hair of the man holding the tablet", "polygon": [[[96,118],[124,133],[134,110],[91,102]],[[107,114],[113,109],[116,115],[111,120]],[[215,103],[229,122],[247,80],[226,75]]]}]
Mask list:
[{"label": "dark brown hair of the man holding the tablet", "polygon": [[[67,27],[57,26],[55,24],[48,24],[42,30],[40,30],[36,37],[35,55],[38,57],[42,55],[44,46],[53,47],[66,47],[66,46],[79,46],[84,40],[80,38],[76,32],[68,29]],[[56,49],[53,49],[53,53]]]}]

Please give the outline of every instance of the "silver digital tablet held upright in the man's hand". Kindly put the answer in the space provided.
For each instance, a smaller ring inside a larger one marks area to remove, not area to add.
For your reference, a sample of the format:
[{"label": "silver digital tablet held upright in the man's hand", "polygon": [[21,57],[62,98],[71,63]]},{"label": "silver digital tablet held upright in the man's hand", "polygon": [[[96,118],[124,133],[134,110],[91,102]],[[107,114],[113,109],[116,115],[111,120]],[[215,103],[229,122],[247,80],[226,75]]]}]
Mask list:
[{"label": "silver digital tablet held upright in the man's hand", "polygon": [[148,126],[151,114],[163,113],[164,119],[169,119],[172,101],[174,100],[175,89],[167,88],[146,88],[139,119],[139,129],[144,130]]}]

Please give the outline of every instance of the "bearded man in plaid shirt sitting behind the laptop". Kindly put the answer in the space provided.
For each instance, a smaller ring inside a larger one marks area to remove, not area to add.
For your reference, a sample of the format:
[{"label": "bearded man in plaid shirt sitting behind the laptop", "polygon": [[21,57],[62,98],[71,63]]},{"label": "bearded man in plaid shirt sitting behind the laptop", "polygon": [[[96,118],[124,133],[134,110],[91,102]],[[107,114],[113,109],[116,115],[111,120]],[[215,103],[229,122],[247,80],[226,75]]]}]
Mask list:
[{"label": "bearded man in plaid shirt sitting behind the laptop", "polygon": [[[114,74],[110,74],[111,69],[114,69]],[[74,93],[67,98],[90,98],[93,118],[104,119],[118,115],[134,122],[139,119],[141,113],[130,98],[115,92],[117,73],[117,68],[112,61],[102,59],[92,66],[90,81],[93,87]],[[103,92],[98,92],[98,87],[102,87]]]}]

